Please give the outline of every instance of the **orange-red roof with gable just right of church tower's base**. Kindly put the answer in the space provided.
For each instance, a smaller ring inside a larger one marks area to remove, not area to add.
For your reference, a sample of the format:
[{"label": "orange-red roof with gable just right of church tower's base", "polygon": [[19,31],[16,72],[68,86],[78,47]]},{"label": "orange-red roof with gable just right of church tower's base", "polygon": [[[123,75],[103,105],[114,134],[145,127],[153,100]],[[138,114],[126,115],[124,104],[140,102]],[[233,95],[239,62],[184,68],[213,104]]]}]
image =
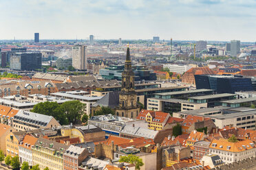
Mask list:
[{"label": "orange-red roof with gable just right of church tower's base", "polygon": [[168,112],[160,112],[160,111],[153,111],[153,110],[144,110],[140,111],[138,114],[137,119],[145,120],[147,114],[151,114],[152,121],[157,123],[162,123],[170,114]]}]

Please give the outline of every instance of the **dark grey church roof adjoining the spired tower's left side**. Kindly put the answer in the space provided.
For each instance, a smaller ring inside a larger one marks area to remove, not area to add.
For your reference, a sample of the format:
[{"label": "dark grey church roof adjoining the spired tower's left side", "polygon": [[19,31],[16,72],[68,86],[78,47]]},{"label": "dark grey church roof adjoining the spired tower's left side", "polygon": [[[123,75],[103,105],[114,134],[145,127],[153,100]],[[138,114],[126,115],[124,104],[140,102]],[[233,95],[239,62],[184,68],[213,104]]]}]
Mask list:
[{"label": "dark grey church roof adjoining the spired tower's left side", "polygon": [[92,106],[105,106],[109,108],[116,108],[119,104],[119,93],[118,92],[110,92],[107,93],[103,98],[99,99]]}]

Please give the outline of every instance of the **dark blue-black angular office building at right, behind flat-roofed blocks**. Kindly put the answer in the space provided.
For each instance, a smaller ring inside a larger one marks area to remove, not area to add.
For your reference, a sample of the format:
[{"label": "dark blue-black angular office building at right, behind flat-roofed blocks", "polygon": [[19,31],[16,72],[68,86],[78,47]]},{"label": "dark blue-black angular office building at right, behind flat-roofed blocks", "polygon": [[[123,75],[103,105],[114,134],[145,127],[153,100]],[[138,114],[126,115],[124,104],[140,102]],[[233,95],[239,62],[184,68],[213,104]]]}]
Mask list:
[{"label": "dark blue-black angular office building at right, behind flat-roofed blocks", "polygon": [[216,93],[253,90],[250,78],[238,75],[195,75],[195,85],[197,89],[213,89]]}]

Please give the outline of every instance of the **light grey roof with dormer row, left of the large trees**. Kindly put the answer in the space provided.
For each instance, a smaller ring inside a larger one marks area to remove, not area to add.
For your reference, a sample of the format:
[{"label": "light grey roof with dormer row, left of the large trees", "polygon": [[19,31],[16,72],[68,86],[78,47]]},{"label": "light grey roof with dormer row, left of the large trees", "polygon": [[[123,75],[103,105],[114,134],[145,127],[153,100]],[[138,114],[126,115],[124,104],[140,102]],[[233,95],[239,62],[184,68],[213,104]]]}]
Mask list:
[{"label": "light grey roof with dormer row, left of the large trees", "polygon": [[17,114],[14,116],[14,119],[28,121],[30,124],[46,126],[52,119],[54,119],[54,117],[47,116],[45,114],[19,110],[19,112],[17,112]]}]

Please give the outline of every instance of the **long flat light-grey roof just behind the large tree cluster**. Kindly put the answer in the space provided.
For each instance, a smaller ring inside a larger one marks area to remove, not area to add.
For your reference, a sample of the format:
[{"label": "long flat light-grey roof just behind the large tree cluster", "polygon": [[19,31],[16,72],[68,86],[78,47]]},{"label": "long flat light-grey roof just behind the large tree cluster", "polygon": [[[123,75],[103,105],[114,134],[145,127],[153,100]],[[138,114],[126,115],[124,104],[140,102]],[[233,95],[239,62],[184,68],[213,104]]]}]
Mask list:
[{"label": "long flat light-grey roof just behind the large tree cluster", "polygon": [[103,98],[103,96],[89,97],[89,96],[81,96],[81,95],[72,95],[65,92],[51,93],[51,95],[58,96],[58,97],[68,97],[68,98],[72,98],[74,100],[79,100],[79,101],[95,101]]}]

